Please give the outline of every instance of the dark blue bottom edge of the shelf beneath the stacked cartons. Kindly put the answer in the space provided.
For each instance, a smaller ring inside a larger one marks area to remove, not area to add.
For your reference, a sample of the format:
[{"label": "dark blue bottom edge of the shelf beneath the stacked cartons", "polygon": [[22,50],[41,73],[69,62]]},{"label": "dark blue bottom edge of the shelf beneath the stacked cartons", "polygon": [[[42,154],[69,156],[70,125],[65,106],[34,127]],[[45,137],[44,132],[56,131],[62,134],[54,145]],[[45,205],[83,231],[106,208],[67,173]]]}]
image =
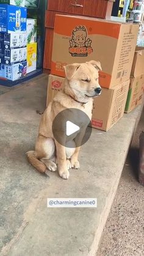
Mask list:
[{"label": "dark blue bottom edge of the shelf beneath the stacked cartons", "polygon": [[27,81],[29,79],[32,79],[35,76],[40,75],[41,73],[43,73],[43,69],[42,68],[41,69],[37,69],[35,71],[32,71],[31,73],[27,74],[26,77],[18,79],[18,80],[15,80],[15,81],[11,81],[11,80],[8,80],[8,79],[0,78],[0,86],[7,86],[7,87],[16,86],[16,84],[20,84],[21,82],[25,82],[25,81]]}]

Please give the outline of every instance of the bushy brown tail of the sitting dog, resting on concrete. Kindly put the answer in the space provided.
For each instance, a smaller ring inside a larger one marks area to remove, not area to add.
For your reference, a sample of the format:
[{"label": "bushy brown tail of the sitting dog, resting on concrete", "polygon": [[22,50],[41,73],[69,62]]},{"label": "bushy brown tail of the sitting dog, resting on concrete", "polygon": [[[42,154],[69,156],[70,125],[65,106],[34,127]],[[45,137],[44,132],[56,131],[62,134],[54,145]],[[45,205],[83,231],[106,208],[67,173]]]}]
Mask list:
[{"label": "bushy brown tail of the sitting dog, resting on concrete", "polygon": [[41,173],[46,172],[46,166],[44,163],[38,160],[37,152],[29,151],[26,153],[26,155],[27,155],[27,158],[29,159],[29,163],[31,163],[32,166],[35,167],[35,169],[37,169]]}]

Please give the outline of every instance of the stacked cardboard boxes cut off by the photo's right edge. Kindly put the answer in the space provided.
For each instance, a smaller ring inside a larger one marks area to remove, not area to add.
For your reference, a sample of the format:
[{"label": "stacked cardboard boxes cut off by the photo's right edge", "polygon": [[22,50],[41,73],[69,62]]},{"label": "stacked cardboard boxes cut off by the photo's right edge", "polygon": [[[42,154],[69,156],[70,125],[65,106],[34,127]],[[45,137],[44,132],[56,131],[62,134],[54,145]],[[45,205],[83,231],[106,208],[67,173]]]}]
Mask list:
[{"label": "stacked cardboard boxes cut off by the photo's right edge", "polygon": [[134,60],[131,70],[128,98],[124,112],[130,112],[142,103],[144,89],[144,48],[135,49]]}]

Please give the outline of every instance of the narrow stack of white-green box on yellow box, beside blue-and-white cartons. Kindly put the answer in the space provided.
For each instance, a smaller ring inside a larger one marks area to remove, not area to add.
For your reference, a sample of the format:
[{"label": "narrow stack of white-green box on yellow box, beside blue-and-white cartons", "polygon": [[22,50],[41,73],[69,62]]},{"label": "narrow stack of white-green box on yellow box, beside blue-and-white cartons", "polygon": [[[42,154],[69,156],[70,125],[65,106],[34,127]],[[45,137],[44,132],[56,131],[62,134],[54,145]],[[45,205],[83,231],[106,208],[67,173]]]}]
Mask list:
[{"label": "narrow stack of white-green box on yellow box, beside blue-and-white cartons", "polygon": [[37,68],[37,20],[27,19],[27,73]]}]

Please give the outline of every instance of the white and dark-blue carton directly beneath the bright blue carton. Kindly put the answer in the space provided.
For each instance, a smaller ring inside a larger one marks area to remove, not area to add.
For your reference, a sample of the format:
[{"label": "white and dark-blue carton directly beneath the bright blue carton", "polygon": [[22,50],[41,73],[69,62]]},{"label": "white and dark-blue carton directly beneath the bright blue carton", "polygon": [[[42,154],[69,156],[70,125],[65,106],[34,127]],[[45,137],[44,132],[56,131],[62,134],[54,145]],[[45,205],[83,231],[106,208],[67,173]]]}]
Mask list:
[{"label": "white and dark-blue carton directly beneath the bright blue carton", "polygon": [[27,46],[26,33],[0,33],[0,42],[3,42],[4,48],[19,48]]}]

